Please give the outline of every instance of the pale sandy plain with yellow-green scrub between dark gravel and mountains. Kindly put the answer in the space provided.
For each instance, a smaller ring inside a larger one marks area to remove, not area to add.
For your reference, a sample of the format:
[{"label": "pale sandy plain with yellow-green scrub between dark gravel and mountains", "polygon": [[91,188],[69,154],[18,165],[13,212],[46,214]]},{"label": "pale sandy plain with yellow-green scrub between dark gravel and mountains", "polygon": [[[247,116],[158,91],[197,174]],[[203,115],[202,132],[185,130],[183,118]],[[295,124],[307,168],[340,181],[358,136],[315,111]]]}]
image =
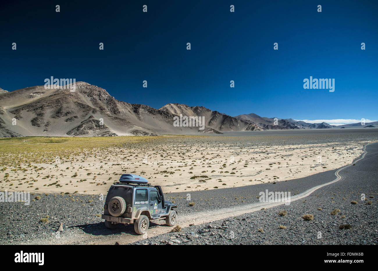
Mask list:
[{"label": "pale sandy plain with yellow-green scrub between dark gravel and mountains", "polygon": [[282,182],[348,165],[369,134],[0,139],[0,190],[106,194],[121,174],[184,192]]}]

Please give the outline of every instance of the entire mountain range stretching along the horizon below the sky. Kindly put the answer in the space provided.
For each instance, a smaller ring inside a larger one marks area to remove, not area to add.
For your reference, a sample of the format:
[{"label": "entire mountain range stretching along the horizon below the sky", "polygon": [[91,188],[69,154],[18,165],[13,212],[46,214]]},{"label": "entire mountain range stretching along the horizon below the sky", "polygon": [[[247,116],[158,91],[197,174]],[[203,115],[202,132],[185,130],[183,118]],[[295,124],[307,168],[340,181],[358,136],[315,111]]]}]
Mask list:
[{"label": "entire mountain range stretching along the horizon below the sky", "polygon": [[[198,126],[174,126],[174,118],[204,117]],[[275,123],[276,121],[276,123]],[[369,125],[369,124],[367,124]],[[228,131],[332,128],[323,123],[274,119],[256,114],[229,115],[203,106],[168,103],[159,109],[116,100],[105,89],[76,82],[76,90],[32,86],[0,88],[0,137],[19,136],[154,136],[221,134]]]}]

